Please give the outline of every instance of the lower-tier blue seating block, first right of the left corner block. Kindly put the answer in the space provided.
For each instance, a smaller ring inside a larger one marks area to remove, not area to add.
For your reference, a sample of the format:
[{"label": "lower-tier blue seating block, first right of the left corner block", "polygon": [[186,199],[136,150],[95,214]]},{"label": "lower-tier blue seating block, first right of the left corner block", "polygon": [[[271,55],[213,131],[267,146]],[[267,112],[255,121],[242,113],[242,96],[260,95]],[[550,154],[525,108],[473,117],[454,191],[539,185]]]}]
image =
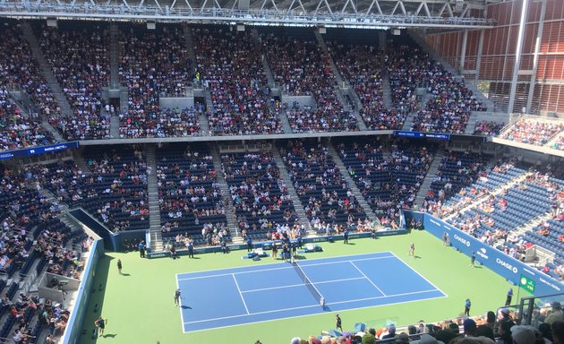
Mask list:
[{"label": "lower-tier blue seating block, first right of the left corner block", "polygon": [[225,202],[206,149],[175,146],[158,150],[160,221],[165,242],[176,247],[231,241]]}]

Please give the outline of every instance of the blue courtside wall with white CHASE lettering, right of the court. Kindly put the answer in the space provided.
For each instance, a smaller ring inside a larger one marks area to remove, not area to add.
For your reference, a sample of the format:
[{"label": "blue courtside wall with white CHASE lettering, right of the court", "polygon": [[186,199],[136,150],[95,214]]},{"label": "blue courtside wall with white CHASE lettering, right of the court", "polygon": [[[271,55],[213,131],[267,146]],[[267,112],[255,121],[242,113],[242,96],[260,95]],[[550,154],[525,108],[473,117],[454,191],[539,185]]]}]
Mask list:
[{"label": "blue courtside wall with white CHASE lettering, right of the court", "polygon": [[468,257],[472,256],[474,252],[476,262],[480,262],[483,266],[494,271],[512,284],[518,285],[521,275],[534,280],[536,284],[535,296],[557,294],[564,291],[564,285],[558,280],[554,280],[542,271],[538,271],[523,262],[517,261],[517,259],[509,257],[490,245],[483,244],[474,236],[469,236],[432,215],[423,214],[423,227],[440,240],[447,233],[452,247]]}]

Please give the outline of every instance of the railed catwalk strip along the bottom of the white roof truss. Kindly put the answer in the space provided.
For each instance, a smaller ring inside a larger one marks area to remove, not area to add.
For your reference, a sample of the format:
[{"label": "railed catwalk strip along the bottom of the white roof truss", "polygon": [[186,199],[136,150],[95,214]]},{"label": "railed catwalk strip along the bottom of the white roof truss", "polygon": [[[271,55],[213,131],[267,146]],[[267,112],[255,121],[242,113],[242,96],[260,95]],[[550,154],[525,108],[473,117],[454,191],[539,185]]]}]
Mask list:
[{"label": "railed catwalk strip along the bottom of the white roof truss", "polygon": [[495,21],[486,18],[460,18],[436,16],[416,16],[413,14],[375,14],[375,13],[301,13],[292,10],[248,9],[202,7],[171,8],[166,6],[125,6],[92,3],[43,3],[3,2],[0,3],[2,15],[44,18],[56,15],[60,19],[122,19],[122,20],[163,20],[249,22],[257,25],[294,24],[312,26],[322,24],[326,27],[340,25],[351,28],[389,28],[389,27],[449,27],[449,28],[489,28]]}]

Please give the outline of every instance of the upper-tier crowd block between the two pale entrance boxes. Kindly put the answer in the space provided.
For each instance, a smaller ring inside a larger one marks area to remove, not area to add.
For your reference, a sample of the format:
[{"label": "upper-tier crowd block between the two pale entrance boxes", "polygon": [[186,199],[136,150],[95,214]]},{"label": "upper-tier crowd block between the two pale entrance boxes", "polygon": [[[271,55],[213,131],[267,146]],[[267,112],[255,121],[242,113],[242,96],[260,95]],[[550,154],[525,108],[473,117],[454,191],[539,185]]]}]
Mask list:
[{"label": "upper-tier crowd block between the two pale entrance boxes", "polygon": [[210,133],[282,133],[280,119],[268,107],[269,88],[261,63],[261,47],[251,35],[203,27],[192,29],[192,34],[196,80],[211,93]]}]

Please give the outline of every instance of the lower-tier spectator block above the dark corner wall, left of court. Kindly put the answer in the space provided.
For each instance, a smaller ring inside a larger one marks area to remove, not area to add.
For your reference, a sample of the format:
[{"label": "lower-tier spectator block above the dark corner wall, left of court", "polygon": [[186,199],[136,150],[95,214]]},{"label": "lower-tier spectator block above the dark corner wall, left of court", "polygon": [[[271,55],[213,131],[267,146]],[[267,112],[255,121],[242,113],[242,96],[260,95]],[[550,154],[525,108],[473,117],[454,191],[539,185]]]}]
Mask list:
[{"label": "lower-tier spectator block above the dark corner wall, left of court", "polygon": [[38,187],[82,206],[113,232],[149,227],[147,163],[135,146],[85,150],[88,170],[73,161],[37,166]]}]

